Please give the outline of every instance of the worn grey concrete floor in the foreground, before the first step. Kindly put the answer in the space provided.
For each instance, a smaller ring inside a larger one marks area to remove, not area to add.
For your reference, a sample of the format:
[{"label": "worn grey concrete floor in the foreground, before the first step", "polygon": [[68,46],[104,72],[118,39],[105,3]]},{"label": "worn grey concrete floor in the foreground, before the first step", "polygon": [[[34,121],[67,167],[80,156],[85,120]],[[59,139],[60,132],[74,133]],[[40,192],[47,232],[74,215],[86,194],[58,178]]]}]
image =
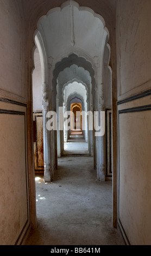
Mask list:
[{"label": "worn grey concrete floor in the foreground, before the first step", "polygon": [[112,228],[112,183],[96,180],[93,157],[58,159],[52,183],[36,176],[37,228],[26,245],[122,245]]}]

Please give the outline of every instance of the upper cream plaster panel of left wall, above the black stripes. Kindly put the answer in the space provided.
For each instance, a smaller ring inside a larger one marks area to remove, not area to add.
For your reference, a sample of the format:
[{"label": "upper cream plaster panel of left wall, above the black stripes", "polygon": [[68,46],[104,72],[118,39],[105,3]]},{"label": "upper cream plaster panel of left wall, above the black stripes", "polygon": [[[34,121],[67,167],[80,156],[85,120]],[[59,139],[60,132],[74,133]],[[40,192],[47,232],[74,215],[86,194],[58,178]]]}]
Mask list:
[{"label": "upper cream plaster panel of left wall, above the black stripes", "polygon": [[0,1],[0,93],[17,99],[26,96],[23,79],[23,22],[21,1]]}]

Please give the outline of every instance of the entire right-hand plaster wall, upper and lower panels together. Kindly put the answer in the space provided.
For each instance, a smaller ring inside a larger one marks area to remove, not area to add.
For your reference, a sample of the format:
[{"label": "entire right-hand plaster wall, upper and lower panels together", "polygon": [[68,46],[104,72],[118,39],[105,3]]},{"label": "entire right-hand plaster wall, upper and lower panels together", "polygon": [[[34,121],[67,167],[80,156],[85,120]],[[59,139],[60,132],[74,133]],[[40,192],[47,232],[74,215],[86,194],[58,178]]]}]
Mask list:
[{"label": "entire right-hand plaster wall, upper and lower panels together", "polygon": [[[118,225],[131,245],[150,245],[150,8],[148,0],[118,1]],[[128,98],[126,98],[128,97]],[[137,107],[137,108],[136,108]],[[134,111],[135,108],[135,111]],[[128,109],[125,112],[124,109]],[[123,111],[123,112],[122,112]]]}]

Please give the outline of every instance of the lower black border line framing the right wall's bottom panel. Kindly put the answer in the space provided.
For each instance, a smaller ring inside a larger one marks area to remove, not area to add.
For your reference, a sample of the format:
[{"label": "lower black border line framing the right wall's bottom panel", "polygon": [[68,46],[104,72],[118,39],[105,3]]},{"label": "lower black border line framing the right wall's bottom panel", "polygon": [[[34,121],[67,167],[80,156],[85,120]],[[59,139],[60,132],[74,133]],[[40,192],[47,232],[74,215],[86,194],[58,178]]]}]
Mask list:
[{"label": "lower black border line framing the right wall's bottom panel", "polygon": [[[128,239],[127,234],[125,233],[125,230],[124,230],[124,227],[122,225],[122,222],[119,219],[119,114],[143,112],[143,111],[150,111],[150,110],[151,110],[151,105],[146,105],[146,106],[140,106],[140,107],[126,108],[126,109],[122,109],[122,110],[118,111],[118,176],[117,176],[117,178],[118,178],[118,205],[117,205],[117,210],[118,210],[118,222],[119,222],[118,226],[119,226],[120,230],[122,229],[121,230],[121,234],[122,233],[124,234],[125,238],[127,239],[128,245],[130,245],[130,241]],[[122,236],[123,236],[123,234],[122,234]]]}]

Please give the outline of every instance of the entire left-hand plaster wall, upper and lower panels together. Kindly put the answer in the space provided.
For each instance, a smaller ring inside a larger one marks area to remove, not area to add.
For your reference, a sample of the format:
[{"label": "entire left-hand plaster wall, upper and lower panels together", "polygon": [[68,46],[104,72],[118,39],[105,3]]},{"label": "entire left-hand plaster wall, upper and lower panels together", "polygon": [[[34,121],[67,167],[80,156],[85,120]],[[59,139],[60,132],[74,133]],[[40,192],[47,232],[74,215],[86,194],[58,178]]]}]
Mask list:
[{"label": "entire left-hand plaster wall, upper and lower panels together", "polygon": [[20,0],[0,1],[1,245],[22,243],[31,220],[23,22]]}]

